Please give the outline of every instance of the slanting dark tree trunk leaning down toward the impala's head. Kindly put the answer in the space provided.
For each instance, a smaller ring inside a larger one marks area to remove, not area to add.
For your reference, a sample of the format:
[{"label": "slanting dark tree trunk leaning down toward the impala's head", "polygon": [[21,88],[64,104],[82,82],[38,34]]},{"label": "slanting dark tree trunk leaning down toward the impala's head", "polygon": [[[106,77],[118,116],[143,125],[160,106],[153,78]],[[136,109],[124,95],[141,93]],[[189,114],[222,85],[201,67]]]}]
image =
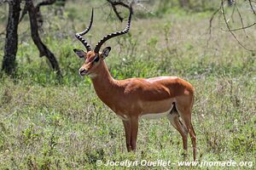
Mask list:
[{"label": "slanting dark tree trunk leaning down toward the impala's head", "polygon": [[55,59],[55,55],[51,53],[49,48],[47,48],[44,43],[42,42],[41,38],[39,37],[38,33],[38,20],[37,20],[37,9],[35,8],[32,0],[26,0],[26,8],[29,15],[30,20],[30,28],[31,28],[31,36],[33,42],[38,47],[40,57],[45,56],[49,59],[50,65],[52,66],[53,70],[56,71],[56,74],[59,78],[61,78],[61,70],[58,64],[57,59]]}]

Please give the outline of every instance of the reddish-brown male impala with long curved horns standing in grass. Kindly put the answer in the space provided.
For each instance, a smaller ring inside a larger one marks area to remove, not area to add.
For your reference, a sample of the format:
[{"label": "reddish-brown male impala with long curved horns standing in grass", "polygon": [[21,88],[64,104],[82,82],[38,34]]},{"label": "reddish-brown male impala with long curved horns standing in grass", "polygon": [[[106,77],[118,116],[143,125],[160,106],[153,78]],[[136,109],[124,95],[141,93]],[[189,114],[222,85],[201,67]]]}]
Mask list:
[{"label": "reddish-brown male impala with long curved horns standing in grass", "polygon": [[178,77],[113,79],[104,61],[111,48],[104,48],[102,52],[100,52],[100,48],[108,39],[123,35],[129,31],[131,8],[125,29],[103,37],[96,44],[94,50],[82,37],[90,31],[92,20],[93,10],[90,26],[85,31],[75,35],[87,49],[87,52],[81,49],[73,49],[80,58],[85,59],[84,65],[79,69],[79,74],[91,78],[97,96],[122,119],[125,127],[127,150],[136,150],[138,120],[140,117],[157,118],[167,116],[172,126],[182,136],[185,153],[187,152],[187,136],[189,133],[195,160],[196,137],[191,123],[191,110],[194,101],[194,88],[192,85]]}]

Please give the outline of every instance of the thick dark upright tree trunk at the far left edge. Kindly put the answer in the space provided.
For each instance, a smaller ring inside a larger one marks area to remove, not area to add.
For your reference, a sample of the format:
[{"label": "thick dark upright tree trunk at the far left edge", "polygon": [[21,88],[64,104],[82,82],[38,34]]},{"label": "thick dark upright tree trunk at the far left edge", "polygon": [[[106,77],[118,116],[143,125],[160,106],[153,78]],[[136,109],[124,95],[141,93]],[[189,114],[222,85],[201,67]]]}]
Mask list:
[{"label": "thick dark upright tree trunk at the far left edge", "polygon": [[15,72],[15,59],[18,49],[18,25],[20,17],[20,0],[9,0],[9,18],[6,26],[6,39],[2,71],[8,75]]}]

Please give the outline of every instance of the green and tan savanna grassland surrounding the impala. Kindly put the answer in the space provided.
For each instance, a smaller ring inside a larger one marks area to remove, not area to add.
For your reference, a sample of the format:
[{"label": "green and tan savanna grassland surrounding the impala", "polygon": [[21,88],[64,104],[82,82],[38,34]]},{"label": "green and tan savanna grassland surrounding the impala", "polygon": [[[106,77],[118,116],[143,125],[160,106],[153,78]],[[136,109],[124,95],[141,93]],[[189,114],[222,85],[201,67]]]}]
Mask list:
[{"label": "green and tan savanna grassland surrounding the impala", "polygon": [[[141,120],[137,153],[127,153],[119,117],[97,98],[90,78],[79,76],[84,60],[73,48],[84,47],[73,35],[87,26],[91,7],[95,7],[95,20],[87,39],[93,45],[103,35],[125,27],[113,13],[108,15],[104,3],[68,2],[63,15],[55,15],[54,7],[42,8],[44,31],[40,35],[59,61],[61,81],[47,59],[39,58],[27,16],[20,23],[15,78],[3,76],[0,80],[0,169],[123,169],[97,167],[96,161],[183,161],[181,136],[166,118]],[[218,8],[218,3],[211,5]],[[213,10],[187,11],[160,3],[143,7],[153,14],[134,8],[130,33],[104,45],[112,47],[106,59],[112,76],[177,76],[191,82],[195,87],[192,122],[198,161],[251,161],[251,169],[255,168],[255,52],[241,48],[230,32],[221,30],[226,29],[221,14],[213,20],[209,39]],[[255,16],[247,6],[241,9],[245,25],[253,23]],[[230,16],[232,9],[226,10]],[[3,31],[7,5],[0,6],[0,11]],[[230,20],[231,26],[241,26],[237,16]],[[255,49],[255,26],[246,34],[236,31],[236,36],[247,48]],[[2,35],[0,64],[3,47]],[[193,159],[191,148],[189,140],[189,161]]]}]

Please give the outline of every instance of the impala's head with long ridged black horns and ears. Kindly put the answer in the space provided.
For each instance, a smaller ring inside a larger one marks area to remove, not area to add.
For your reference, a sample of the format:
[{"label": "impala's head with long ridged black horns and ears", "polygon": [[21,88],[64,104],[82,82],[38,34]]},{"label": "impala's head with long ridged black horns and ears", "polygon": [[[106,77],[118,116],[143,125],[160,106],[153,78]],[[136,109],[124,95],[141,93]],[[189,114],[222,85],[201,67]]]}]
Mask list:
[{"label": "impala's head with long ridged black horns and ears", "polygon": [[85,75],[93,76],[98,70],[97,68],[99,67],[99,65],[102,65],[102,63],[104,62],[103,59],[106,59],[106,57],[108,57],[108,54],[111,50],[110,47],[104,48],[102,52],[100,52],[100,49],[104,42],[107,42],[112,37],[121,36],[129,31],[131,26],[131,7],[130,7],[128,23],[125,29],[123,31],[113,32],[111,34],[108,34],[107,36],[102,37],[102,39],[96,44],[96,48],[94,50],[91,49],[90,44],[86,42],[84,37],[82,37],[88,31],[90,31],[92,21],[93,21],[93,9],[91,11],[90,26],[88,26],[86,30],[76,33],[75,35],[75,37],[77,37],[79,41],[84,44],[84,47],[86,48],[86,52],[82,49],[76,49],[76,48],[73,49],[73,51],[79,56],[79,58],[84,59],[84,64],[79,69],[79,74],[81,76],[85,76]]}]

